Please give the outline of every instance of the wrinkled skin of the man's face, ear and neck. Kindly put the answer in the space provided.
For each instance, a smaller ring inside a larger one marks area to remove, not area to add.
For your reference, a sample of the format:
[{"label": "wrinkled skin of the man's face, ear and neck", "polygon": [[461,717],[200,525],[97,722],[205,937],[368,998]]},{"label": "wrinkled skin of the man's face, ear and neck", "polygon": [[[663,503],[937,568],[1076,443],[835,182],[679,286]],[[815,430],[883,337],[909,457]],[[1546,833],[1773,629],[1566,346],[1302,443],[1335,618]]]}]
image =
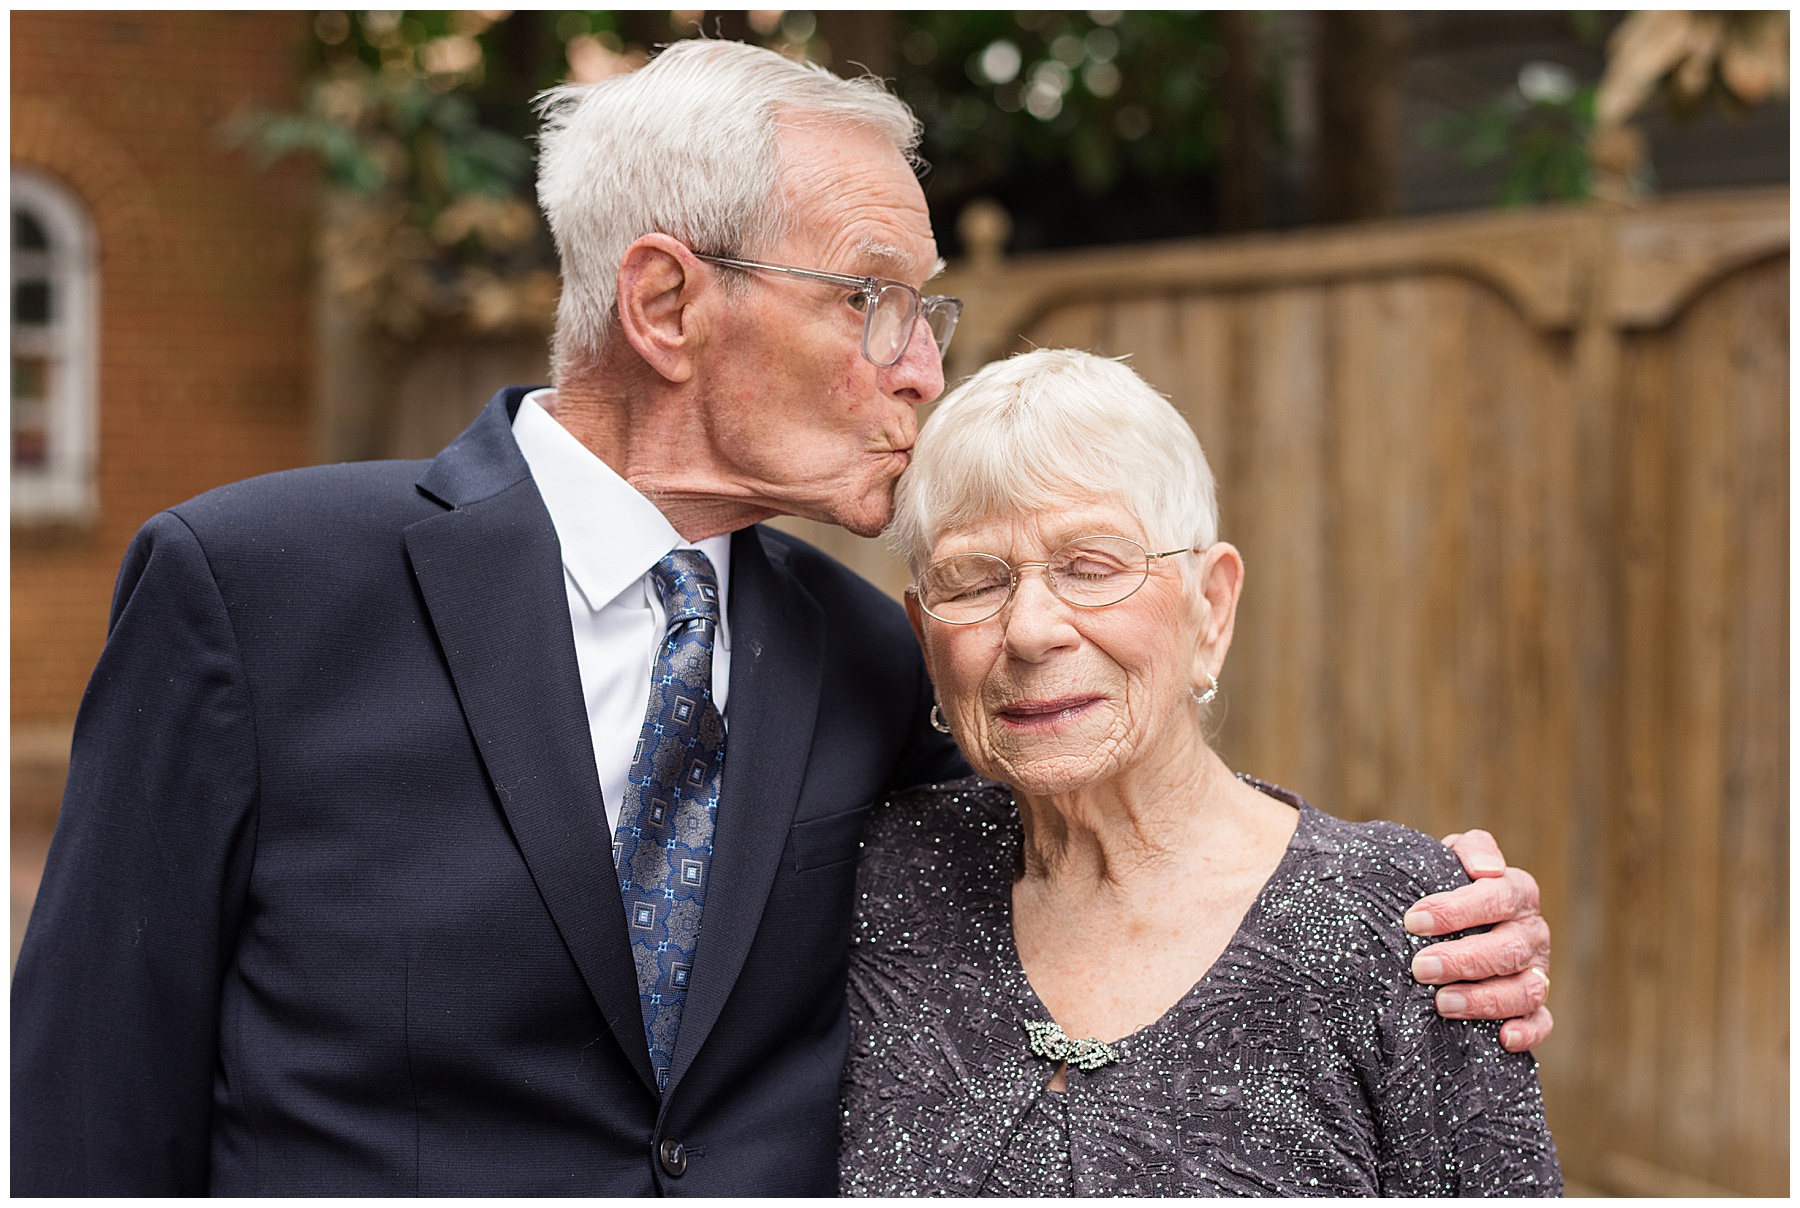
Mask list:
[{"label": "wrinkled skin of the man's face, ear and neck", "polygon": [[[734,252],[913,286],[938,272],[925,194],[886,139],[797,126],[781,148],[792,234]],[[923,319],[896,364],[869,364],[853,297],[641,236],[619,263],[617,338],[599,373],[558,382],[553,414],[688,540],[774,515],[873,536],[943,364]]]}]

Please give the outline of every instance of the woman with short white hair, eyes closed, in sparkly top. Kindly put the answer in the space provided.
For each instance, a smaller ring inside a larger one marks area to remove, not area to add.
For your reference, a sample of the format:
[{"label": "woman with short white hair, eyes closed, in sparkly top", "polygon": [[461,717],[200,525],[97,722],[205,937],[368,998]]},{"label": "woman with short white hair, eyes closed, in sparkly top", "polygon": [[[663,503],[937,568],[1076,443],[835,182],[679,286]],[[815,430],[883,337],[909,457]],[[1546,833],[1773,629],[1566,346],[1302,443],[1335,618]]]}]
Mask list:
[{"label": "woman with short white hair, eyes closed, in sparkly top", "polygon": [[846,1194],[1561,1192],[1532,1057],[1409,976],[1399,920],[1456,857],[1208,745],[1244,562],[1159,394],[1087,353],[988,365],[893,535],[981,776],[869,823]]}]

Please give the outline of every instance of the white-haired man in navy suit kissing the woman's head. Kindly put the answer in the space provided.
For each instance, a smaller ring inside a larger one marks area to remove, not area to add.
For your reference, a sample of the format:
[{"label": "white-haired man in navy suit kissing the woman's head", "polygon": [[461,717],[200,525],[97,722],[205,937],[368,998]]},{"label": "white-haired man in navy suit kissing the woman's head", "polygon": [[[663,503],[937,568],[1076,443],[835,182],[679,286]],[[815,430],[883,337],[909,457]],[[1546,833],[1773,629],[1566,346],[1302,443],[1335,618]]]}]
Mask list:
[{"label": "white-haired man in navy suit kissing the woman's head", "polygon": [[[733,43],[563,92],[554,391],[144,526],[13,988],[16,1194],[835,1190],[862,816],[965,767],[900,609],[756,522],[877,533],[943,389],[914,140]],[[1467,850],[1431,929],[1519,918],[1438,979],[1525,1014],[1535,891]]]}]

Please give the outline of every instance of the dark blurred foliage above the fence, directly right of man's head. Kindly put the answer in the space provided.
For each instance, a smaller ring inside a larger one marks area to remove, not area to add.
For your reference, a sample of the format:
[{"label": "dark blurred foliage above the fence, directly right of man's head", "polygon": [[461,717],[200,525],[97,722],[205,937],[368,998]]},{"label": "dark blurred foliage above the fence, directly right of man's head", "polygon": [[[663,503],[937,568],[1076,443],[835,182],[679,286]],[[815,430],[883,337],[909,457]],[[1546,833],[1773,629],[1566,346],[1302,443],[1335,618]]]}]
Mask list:
[{"label": "dark blurred foliage above the fence, directly right of man's head", "polygon": [[[925,126],[938,241],[992,196],[1013,248],[1181,238],[1217,229],[1228,137],[1226,47],[1217,13],[922,11],[902,23],[896,92]],[[1296,47],[1278,14],[1255,14],[1258,124],[1287,144],[1283,81]],[[999,63],[986,56],[997,56]],[[995,65],[1017,70],[994,72]],[[1006,76],[1001,79],[1001,76]]]}]

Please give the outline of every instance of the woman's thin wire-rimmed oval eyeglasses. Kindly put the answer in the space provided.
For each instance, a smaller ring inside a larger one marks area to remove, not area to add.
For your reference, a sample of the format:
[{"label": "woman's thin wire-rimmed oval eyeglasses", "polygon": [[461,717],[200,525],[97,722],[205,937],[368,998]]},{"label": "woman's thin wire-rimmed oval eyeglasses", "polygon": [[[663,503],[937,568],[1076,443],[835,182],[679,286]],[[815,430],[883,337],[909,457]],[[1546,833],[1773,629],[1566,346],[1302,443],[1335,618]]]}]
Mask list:
[{"label": "woman's thin wire-rimmed oval eyeglasses", "polygon": [[1129,536],[1078,536],[1044,562],[1013,565],[997,554],[943,558],[925,567],[907,590],[945,625],[976,625],[1006,607],[1026,567],[1044,567],[1044,581],[1058,599],[1076,609],[1105,609],[1138,594],[1157,558],[1192,553],[1154,554]]}]

